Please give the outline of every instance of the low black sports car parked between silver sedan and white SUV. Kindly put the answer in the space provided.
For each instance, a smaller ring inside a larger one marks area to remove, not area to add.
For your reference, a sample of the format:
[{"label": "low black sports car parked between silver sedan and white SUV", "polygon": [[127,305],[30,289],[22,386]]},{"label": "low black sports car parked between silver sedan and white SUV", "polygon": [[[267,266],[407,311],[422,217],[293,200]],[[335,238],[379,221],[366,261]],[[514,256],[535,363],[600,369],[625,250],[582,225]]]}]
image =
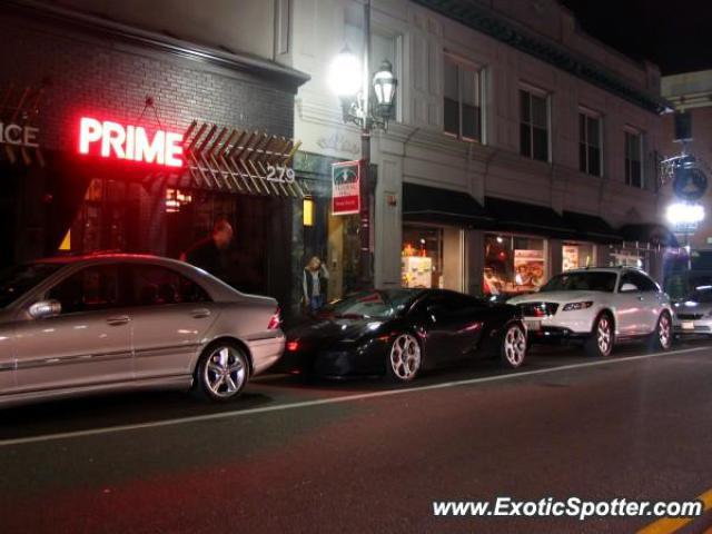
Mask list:
[{"label": "low black sports car parked between silver sedan and white SUV", "polygon": [[281,370],[309,376],[386,375],[498,356],[518,367],[526,330],[516,307],[444,289],[369,290],[332,303],[287,332]]}]

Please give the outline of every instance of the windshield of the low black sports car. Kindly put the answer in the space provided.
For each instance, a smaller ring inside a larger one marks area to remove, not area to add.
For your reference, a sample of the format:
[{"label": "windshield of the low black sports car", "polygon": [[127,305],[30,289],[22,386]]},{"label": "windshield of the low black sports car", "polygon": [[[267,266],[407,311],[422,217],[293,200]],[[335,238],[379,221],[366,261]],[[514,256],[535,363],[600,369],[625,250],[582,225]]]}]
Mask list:
[{"label": "windshield of the low black sports car", "polygon": [[362,291],[332,303],[324,313],[345,318],[388,318],[405,309],[415,295],[407,289]]}]

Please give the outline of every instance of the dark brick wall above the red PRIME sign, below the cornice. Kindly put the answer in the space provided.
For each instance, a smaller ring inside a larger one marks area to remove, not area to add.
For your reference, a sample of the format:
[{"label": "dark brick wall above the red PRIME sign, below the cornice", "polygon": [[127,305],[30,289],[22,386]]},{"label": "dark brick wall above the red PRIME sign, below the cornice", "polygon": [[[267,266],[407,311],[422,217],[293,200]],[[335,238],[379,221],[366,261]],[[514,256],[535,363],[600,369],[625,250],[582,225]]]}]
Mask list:
[{"label": "dark brick wall above the red PRIME sign, below the cornice", "polygon": [[[293,136],[294,96],[286,88],[10,16],[0,16],[0,89],[11,82],[51,82],[39,115],[40,139],[48,149],[76,149],[72,127],[81,115],[136,123],[149,95],[168,129],[182,131],[200,119]],[[158,126],[150,109],[141,123]]]}]

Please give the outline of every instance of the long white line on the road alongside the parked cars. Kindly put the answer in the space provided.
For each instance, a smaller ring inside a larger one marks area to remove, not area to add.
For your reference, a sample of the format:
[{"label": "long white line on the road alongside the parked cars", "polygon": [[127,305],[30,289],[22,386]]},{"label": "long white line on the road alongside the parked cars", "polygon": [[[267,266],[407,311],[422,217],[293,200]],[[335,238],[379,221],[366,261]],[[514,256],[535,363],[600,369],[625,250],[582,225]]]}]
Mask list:
[{"label": "long white line on the road alongside the parked cars", "polygon": [[444,382],[439,384],[431,384],[428,386],[405,387],[398,389],[386,389],[384,392],[359,393],[356,395],[344,395],[342,397],[319,398],[315,400],[303,400],[299,403],[279,404],[275,406],[263,406],[260,408],[234,409],[230,412],[220,412],[217,414],[194,415],[189,417],[179,417],[176,419],[152,421],[147,423],[136,423],[130,425],[107,426],[103,428],[90,428],[87,431],[62,432],[56,434],[44,434],[41,436],[18,437],[12,439],[0,439],[0,447],[12,445],[23,445],[28,443],[52,442],[57,439],[70,439],[75,437],[96,436],[101,434],[113,434],[119,432],[139,431],[144,428],[158,428],[161,426],[175,426],[186,423],[196,423],[200,421],[226,419],[230,417],[241,417],[246,415],[264,414],[269,412],[281,412],[286,409],[298,409],[310,406],[322,406],[327,404],[349,403],[354,400],[364,400],[369,398],[388,397],[392,395],[406,395],[417,392],[427,392],[431,389],[446,389],[452,387],[467,386],[472,384],[484,384],[488,382],[511,380],[524,378],[527,376],[545,375],[550,373],[558,373],[562,370],[581,369],[586,367],[600,367],[604,365],[624,364],[627,362],[636,362],[640,359],[670,357],[676,354],[696,353],[700,350],[709,350],[710,347],[683,348],[679,350],[670,350],[668,353],[642,354],[639,356],[627,356],[620,359],[599,359],[596,362],[585,362],[582,364],[560,365],[558,367],[550,367],[545,369],[533,369],[523,372],[505,373],[496,376],[483,376],[478,378],[467,378],[464,380]]}]

